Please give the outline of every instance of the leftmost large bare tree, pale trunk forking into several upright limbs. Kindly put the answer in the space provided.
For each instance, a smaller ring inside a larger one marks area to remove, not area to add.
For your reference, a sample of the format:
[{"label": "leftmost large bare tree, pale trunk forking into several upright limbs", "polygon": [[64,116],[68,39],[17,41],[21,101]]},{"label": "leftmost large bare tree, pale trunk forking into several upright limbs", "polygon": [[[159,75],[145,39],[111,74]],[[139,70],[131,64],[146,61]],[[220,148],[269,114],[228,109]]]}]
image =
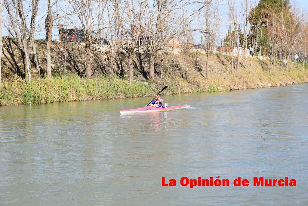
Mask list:
[{"label": "leftmost large bare tree, pale trunk forking into several upright limbs", "polygon": [[[34,44],[35,19],[38,14],[39,0],[4,0],[4,6],[7,10],[8,19],[6,28],[16,40],[18,48],[22,51],[24,59],[25,79],[31,82],[30,58],[29,54]],[[26,8],[26,9],[25,9]],[[10,26],[9,26],[9,25]]]}]

